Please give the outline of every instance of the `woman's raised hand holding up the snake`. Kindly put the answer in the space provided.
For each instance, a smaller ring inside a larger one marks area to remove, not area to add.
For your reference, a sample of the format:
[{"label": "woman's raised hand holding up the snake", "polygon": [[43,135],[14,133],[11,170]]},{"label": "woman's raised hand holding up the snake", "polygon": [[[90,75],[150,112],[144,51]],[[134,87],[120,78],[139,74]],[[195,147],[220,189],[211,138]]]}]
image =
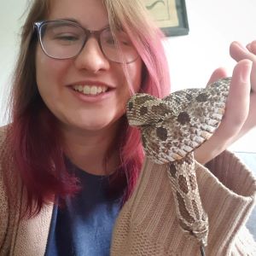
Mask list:
[{"label": "woman's raised hand holding up the snake", "polygon": [[[212,137],[195,150],[195,159],[201,164],[212,160],[256,125],[256,41],[247,44],[247,48],[233,42],[230,55],[237,64],[224,118]],[[226,76],[224,68],[218,68],[209,83]]]}]

